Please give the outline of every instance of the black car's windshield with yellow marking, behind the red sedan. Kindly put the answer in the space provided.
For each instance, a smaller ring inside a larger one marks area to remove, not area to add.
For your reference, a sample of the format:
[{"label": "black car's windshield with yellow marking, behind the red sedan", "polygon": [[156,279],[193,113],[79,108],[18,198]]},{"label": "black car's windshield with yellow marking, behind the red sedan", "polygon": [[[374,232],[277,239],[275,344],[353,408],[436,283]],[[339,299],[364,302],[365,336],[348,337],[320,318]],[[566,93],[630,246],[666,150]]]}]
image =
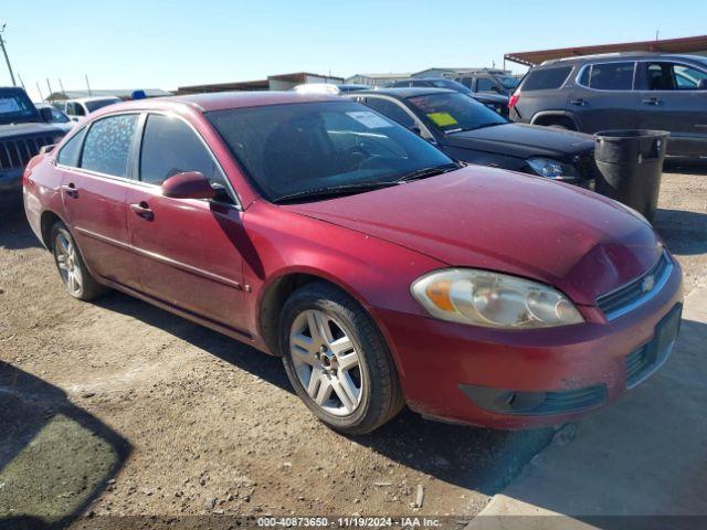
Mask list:
[{"label": "black car's windshield with yellow marking, behind the red sedan", "polygon": [[506,119],[471,97],[460,93],[426,94],[409,97],[430,124],[444,134],[506,124]]}]

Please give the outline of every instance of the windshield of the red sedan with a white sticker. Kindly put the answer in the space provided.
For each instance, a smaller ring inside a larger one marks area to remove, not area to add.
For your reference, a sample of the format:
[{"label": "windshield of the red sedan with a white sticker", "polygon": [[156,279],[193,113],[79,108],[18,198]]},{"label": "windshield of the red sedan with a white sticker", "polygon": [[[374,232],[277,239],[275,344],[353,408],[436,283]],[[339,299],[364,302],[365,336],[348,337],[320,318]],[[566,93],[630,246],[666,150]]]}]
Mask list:
[{"label": "windshield of the red sedan with a white sticker", "polygon": [[355,102],[234,108],[207,116],[272,202],[367,191],[420,178],[422,170],[455,167],[414,132]]}]

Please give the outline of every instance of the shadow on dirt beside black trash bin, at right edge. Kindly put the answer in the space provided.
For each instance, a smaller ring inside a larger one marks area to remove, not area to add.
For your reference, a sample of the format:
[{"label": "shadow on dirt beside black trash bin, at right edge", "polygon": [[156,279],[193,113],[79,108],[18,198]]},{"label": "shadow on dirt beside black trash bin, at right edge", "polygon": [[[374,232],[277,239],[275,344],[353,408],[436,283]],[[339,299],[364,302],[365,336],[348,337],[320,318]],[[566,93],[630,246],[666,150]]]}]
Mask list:
[{"label": "shadow on dirt beside black trash bin, at right edge", "polygon": [[707,213],[659,209],[653,226],[673,254],[707,253]]}]

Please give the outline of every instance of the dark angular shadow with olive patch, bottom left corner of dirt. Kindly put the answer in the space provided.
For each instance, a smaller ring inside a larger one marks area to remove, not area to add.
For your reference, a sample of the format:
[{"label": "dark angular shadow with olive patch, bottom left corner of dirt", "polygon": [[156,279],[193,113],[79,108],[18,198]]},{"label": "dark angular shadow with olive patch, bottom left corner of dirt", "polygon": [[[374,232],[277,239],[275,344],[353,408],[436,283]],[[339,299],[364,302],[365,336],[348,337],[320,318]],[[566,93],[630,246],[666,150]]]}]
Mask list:
[{"label": "dark angular shadow with olive patch, bottom left corner of dirt", "polygon": [[0,529],[64,528],[130,451],[62,390],[0,361]]}]

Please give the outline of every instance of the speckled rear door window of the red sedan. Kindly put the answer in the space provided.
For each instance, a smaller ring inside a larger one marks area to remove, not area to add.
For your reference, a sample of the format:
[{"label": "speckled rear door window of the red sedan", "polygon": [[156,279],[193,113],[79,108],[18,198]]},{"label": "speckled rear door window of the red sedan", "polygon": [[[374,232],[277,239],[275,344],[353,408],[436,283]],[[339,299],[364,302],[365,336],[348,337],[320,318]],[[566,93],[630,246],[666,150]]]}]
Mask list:
[{"label": "speckled rear door window of the red sedan", "polygon": [[137,119],[137,114],[124,114],[94,121],[86,135],[81,167],[98,173],[127,178]]}]

